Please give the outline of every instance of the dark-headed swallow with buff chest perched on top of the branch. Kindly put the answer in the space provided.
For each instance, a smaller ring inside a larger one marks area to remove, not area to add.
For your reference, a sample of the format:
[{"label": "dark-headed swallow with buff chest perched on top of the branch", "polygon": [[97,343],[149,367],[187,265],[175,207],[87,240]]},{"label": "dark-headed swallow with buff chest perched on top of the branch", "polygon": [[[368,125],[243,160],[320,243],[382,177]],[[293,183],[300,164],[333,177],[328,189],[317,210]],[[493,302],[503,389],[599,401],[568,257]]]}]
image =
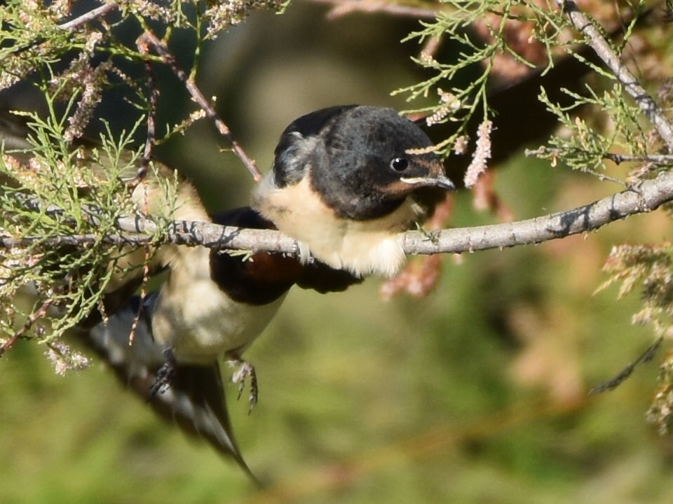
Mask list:
[{"label": "dark-headed swallow with buff chest perched on top of the branch", "polygon": [[454,189],[433,144],[393,109],[335,106],[301,116],[276,147],[252,208],[311,256],[355,276],[393,276],[397,235],[423,221],[426,202]]}]

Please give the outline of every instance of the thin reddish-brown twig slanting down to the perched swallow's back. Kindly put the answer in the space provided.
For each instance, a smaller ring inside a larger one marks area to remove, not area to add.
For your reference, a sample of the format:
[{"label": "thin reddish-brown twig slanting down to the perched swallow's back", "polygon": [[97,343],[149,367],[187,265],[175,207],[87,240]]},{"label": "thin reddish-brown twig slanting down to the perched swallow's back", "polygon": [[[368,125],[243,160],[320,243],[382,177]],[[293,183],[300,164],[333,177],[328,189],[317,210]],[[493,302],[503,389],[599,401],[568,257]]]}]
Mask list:
[{"label": "thin reddish-brown twig slanting down to the perched swallow's back", "polygon": [[186,87],[186,90],[189,92],[189,94],[191,94],[193,101],[196,102],[196,104],[198,104],[198,106],[200,106],[203,111],[205,111],[206,116],[208,116],[208,118],[210,118],[215,123],[215,127],[217,127],[219,133],[222,134],[222,136],[226,138],[227,141],[229,141],[231,150],[243,162],[245,167],[252,174],[254,180],[259,182],[261,180],[261,172],[259,172],[259,169],[257,168],[257,165],[255,165],[254,160],[248,157],[248,155],[243,150],[243,147],[241,147],[236,139],[233,138],[229,127],[224,124],[224,121],[217,115],[215,109],[213,109],[210,103],[208,103],[208,100],[205,99],[203,93],[200,92],[194,81],[191,80],[184,70],[179,67],[175,61],[175,57],[173,57],[173,55],[170,53],[170,50],[168,50],[168,47],[166,47],[162,41],[156,38],[156,35],[154,35],[154,33],[152,33],[150,30],[146,30],[144,34],[140,36],[140,38],[144,38],[147,43],[150,43],[154,47],[154,50],[156,50],[161,59],[163,59],[163,62],[165,62],[172,72],[175,73],[175,76],[177,76],[177,78],[182,81],[184,87]]}]

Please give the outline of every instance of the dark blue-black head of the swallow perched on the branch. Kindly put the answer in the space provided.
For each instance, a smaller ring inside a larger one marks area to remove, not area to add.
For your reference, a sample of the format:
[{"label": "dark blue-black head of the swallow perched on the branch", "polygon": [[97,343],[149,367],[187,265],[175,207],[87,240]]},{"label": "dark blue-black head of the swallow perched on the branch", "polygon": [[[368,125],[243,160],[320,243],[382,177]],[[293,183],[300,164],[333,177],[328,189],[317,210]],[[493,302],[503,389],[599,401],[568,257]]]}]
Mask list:
[{"label": "dark blue-black head of the swallow perched on the branch", "polygon": [[310,177],[311,188],[337,216],[365,221],[390,214],[415,191],[454,188],[435,153],[416,152],[432,145],[393,109],[337,106],[287,127],[273,176],[281,188]]}]

